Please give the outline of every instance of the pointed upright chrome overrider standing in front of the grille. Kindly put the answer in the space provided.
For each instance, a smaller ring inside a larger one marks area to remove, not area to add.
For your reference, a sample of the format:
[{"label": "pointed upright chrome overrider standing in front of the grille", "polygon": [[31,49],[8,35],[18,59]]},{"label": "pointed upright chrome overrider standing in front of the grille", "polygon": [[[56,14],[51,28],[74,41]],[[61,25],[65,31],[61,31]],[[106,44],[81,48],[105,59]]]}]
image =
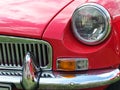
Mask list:
[{"label": "pointed upright chrome overrider standing in front of the grille", "polygon": [[31,53],[25,56],[21,84],[25,90],[36,90],[39,87],[39,79],[41,76],[41,69],[38,68]]}]

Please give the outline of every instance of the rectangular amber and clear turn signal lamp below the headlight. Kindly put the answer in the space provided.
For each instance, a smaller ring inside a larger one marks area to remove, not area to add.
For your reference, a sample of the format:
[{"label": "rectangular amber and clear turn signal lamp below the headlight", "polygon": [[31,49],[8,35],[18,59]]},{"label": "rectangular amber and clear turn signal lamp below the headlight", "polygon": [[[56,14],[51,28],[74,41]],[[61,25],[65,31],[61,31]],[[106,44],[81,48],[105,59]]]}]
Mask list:
[{"label": "rectangular amber and clear turn signal lamp below the headlight", "polygon": [[76,71],[87,70],[87,58],[60,58],[57,59],[57,70],[60,71]]}]

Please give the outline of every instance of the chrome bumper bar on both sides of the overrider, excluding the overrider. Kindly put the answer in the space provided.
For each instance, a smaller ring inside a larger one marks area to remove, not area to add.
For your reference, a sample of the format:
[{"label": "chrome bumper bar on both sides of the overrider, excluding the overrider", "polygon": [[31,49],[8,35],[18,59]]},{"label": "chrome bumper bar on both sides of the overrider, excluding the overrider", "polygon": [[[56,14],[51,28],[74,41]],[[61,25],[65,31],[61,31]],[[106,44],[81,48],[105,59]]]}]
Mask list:
[{"label": "chrome bumper bar on both sides of the overrider, excluding the overrider", "polygon": [[[112,84],[120,79],[119,69],[86,71],[84,74],[42,72],[39,89],[83,89]],[[22,76],[0,76],[0,83],[13,83],[21,89]]]}]

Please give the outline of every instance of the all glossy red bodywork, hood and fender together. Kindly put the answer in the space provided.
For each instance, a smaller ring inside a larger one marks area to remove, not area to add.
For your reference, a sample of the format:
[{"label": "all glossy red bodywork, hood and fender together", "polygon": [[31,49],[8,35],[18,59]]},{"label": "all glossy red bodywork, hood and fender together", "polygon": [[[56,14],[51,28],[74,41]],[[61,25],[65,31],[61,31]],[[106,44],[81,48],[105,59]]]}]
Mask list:
[{"label": "all glossy red bodywork, hood and fender together", "polygon": [[[85,3],[100,4],[110,13],[111,33],[99,45],[85,45],[73,35],[72,14]],[[47,41],[52,46],[52,71],[56,73],[61,73],[58,58],[88,58],[88,72],[116,69],[120,65],[119,4],[120,0],[1,0],[0,34]]]}]

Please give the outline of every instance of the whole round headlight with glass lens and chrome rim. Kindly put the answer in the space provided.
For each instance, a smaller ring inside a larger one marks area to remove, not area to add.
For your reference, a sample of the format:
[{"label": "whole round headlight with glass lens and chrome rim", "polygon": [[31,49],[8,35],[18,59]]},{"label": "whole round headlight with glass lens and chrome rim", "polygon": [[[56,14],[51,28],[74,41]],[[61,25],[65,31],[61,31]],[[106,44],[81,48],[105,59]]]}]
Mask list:
[{"label": "whole round headlight with glass lens and chrome rim", "polygon": [[101,5],[87,3],[77,8],[72,16],[74,35],[87,45],[104,41],[111,31],[111,17]]}]

